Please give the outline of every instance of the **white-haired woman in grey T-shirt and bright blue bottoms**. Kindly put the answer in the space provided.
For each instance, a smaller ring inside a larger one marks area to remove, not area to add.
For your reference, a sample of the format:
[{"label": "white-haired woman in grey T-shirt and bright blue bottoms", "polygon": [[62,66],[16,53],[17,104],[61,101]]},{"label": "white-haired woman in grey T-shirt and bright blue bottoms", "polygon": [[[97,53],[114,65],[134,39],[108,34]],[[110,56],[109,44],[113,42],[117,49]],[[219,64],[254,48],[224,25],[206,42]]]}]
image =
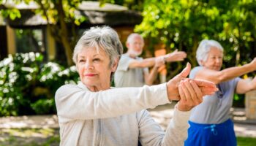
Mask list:
[{"label": "white-haired woman in grey T-shirt and bright blue bottoms", "polygon": [[246,93],[256,89],[256,77],[248,82],[239,76],[256,70],[256,58],[244,66],[221,70],[223,48],[214,40],[203,40],[197,48],[200,66],[190,72],[192,79],[209,80],[217,84],[219,91],[204,96],[203,102],[192,109],[189,118],[189,137],[185,145],[236,145],[230,107],[234,93]]}]

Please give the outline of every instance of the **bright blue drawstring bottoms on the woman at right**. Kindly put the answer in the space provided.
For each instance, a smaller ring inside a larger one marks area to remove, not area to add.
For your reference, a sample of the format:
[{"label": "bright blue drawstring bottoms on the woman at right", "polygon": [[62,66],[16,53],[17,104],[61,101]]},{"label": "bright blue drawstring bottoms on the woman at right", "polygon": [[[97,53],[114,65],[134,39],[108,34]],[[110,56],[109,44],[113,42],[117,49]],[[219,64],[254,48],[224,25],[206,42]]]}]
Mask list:
[{"label": "bright blue drawstring bottoms on the woman at right", "polygon": [[232,120],[219,124],[198,124],[189,121],[185,146],[236,146],[236,134]]}]

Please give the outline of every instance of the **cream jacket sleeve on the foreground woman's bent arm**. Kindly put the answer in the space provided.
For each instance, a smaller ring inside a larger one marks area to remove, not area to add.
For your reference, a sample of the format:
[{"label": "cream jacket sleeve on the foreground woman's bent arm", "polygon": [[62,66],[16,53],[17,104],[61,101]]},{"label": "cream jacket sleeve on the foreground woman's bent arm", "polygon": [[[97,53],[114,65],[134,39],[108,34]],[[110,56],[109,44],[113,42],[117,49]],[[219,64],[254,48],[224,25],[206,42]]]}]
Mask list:
[{"label": "cream jacket sleeve on the foreground woman's bent arm", "polygon": [[166,131],[163,131],[145,110],[143,115],[140,115],[141,118],[139,120],[140,143],[142,145],[156,146],[184,145],[189,128],[189,115],[190,112],[181,112],[175,108],[173,118],[170,120]]}]

